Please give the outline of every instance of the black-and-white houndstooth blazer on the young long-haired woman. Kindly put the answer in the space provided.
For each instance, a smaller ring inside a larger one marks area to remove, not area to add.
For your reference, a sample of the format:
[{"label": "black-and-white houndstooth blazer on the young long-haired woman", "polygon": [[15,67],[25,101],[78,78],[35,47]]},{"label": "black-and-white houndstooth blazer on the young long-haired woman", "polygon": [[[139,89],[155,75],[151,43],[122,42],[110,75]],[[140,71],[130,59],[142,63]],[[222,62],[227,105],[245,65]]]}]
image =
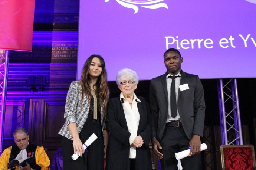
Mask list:
[{"label": "black-and-white houndstooth blazer on the young long-haired woman", "polygon": [[[85,121],[88,117],[89,113],[89,100],[88,96],[84,95],[83,97],[83,104],[82,103],[82,88],[79,81],[73,81],[70,84],[67,98],[66,98],[66,105],[65,105],[65,113],[64,119],[66,120],[65,124],[59,131],[59,135],[62,135],[70,140],[73,140],[71,133],[69,132],[68,125],[70,123],[76,123],[76,128],[78,130],[78,134],[83,128]],[[105,108],[104,105],[101,106],[101,126],[102,126],[102,134],[104,137],[103,130],[106,129],[106,121],[104,119],[104,112]],[[104,143],[105,143],[105,138]]]}]

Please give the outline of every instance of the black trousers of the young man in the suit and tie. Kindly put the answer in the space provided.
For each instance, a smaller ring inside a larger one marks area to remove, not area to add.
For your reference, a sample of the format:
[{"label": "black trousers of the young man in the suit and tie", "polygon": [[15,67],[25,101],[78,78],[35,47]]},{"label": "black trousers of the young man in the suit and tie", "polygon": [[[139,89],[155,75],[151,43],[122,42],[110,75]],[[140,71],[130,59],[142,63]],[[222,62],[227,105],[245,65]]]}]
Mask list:
[{"label": "black trousers of the young man in the suit and tie", "polygon": [[[188,139],[182,125],[179,127],[165,126],[164,135],[160,141],[163,154],[161,162],[162,170],[177,170],[177,159],[175,153],[187,150],[190,139]],[[201,154],[188,156],[181,159],[183,170],[200,170],[201,169]]]}]

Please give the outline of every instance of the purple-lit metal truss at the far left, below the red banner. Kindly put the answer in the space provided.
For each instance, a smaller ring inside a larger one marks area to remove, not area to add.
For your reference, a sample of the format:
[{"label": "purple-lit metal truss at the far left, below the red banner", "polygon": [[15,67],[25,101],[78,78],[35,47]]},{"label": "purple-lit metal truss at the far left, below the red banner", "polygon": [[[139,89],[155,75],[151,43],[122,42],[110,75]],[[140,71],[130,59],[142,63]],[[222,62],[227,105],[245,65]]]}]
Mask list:
[{"label": "purple-lit metal truss at the far left, below the red banner", "polygon": [[3,148],[4,118],[6,106],[7,79],[9,70],[9,50],[0,54],[0,155]]}]

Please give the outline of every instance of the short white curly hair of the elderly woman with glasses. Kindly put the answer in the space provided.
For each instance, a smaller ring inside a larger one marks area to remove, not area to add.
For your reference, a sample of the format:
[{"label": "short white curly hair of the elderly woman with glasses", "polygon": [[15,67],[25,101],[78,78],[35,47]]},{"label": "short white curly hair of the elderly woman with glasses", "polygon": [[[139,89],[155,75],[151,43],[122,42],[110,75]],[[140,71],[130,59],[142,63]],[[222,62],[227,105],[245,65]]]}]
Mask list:
[{"label": "short white curly hair of the elderly woman with glasses", "polygon": [[121,69],[117,75],[116,75],[116,84],[119,87],[120,83],[121,83],[121,79],[122,78],[132,78],[134,80],[135,83],[139,83],[139,78],[138,75],[135,71],[129,69],[129,68],[124,68]]}]

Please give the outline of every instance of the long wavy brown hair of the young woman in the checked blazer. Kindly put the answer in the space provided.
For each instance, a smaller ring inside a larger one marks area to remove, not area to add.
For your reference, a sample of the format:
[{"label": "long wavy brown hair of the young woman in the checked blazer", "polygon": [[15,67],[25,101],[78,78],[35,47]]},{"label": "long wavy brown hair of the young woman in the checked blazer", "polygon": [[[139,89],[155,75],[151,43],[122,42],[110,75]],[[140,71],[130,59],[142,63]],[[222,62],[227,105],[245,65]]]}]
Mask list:
[{"label": "long wavy brown hair of the young woman in the checked blazer", "polygon": [[[105,108],[105,113],[106,113],[106,106],[107,106],[107,102],[109,99],[109,89],[108,89],[108,85],[107,85],[107,72],[106,72],[106,68],[105,68],[105,61],[104,59],[100,56],[100,55],[96,55],[93,54],[91,55],[85,62],[85,65],[83,66],[82,69],[82,75],[81,75],[81,79],[80,79],[80,84],[82,87],[82,101],[83,101],[83,96],[84,94],[86,94],[89,98],[89,103],[90,103],[90,107],[92,108],[92,103],[91,103],[91,86],[90,86],[90,75],[89,75],[89,67],[91,65],[92,59],[94,57],[99,58],[99,61],[101,62],[102,65],[102,71],[101,71],[101,75],[98,77],[97,82],[94,86],[96,86],[96,96],[97,99],[99,101],[99,106],[101,107],[102,105],[104,105]],[[95,103],[97,104],[97,103]]]}]

